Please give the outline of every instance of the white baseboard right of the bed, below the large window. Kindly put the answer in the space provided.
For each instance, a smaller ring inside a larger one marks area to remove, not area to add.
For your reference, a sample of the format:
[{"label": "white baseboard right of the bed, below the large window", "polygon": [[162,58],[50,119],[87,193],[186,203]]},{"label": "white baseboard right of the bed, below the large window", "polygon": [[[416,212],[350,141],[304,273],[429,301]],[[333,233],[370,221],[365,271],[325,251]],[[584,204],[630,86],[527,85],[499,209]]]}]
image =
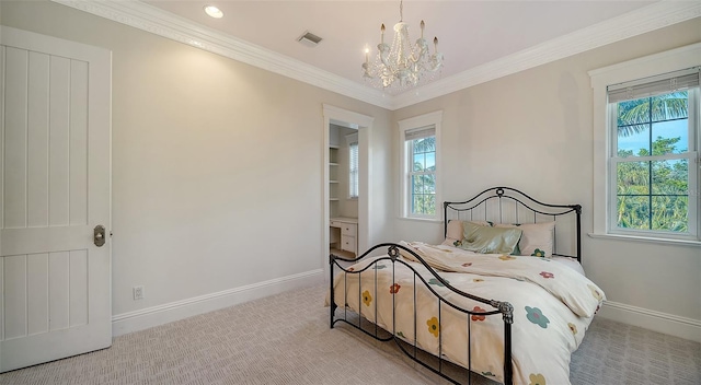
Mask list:
[{"label": "white baseboard right of the bed, below the large window", "polygon": [[606,301],[597,316],[701,342],[701,320]]}]

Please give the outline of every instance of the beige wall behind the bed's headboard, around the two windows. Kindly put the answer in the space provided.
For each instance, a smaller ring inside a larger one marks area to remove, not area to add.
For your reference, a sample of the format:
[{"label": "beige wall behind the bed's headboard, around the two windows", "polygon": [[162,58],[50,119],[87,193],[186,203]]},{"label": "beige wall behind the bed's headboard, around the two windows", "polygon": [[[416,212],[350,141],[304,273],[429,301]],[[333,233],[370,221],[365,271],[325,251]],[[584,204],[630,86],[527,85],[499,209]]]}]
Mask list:
[{"label": "beige wall behind the bed's headboard, around the two windows", "polygon": [[[400,109],[393,120],[444,110],[445,199],[507,185],[544,201],[581,203],[583,230],[589,233],[594,173],[602,171],[594,170],[593,91],[587,71],[701,42],[699,25],[701,20],[694,19],[455,92]],[[395,127],[392,133],[395,153],[398,131]],[[397,217],[399,208],[394,212]],[[398,238],[435,242],[443,232],[441,224],[395,222]],[[583,254],[587,275],[608,300],[690,318],[699,330],[698,246],[584,235]]]}]

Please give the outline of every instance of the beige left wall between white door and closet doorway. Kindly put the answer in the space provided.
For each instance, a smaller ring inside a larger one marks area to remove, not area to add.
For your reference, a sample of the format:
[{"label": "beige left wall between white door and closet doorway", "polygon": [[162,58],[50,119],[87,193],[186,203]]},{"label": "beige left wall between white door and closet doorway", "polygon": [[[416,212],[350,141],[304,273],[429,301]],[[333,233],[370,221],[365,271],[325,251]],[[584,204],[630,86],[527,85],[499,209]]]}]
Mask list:
[{"label": "beige left wall between white door and closet doorway", "polygon": [[375,117],[372,148],[389,112],[60,4],[0,7],[3,25],[112,50],[114,315],[323,268],[322,104]]}]

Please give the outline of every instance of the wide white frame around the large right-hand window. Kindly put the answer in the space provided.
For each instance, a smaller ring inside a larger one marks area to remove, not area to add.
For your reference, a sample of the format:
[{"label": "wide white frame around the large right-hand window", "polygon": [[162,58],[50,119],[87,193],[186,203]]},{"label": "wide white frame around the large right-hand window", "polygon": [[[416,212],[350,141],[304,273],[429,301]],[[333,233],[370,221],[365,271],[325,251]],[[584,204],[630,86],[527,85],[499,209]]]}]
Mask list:
[{"label": "wide white frame around the large right-hand window", "polygon": [[[690,220],[693,220],[694,223],[690,224],[689,228],[691,230],[696,225],[696,234],[688,237],[679,237],[651,231],[630,232],[614,229],[611,218],[616,208],[612,201],[613,195],[609,192],[616,186],[616,178],[611,175],[611,154],[616,151],[616,141],[610,130],[610,125],[614,120],[611,117],[613,112],[609,106],[607,94],[608,85],[698,67],[701,66],[700,58],[701,43],[589,71],[591,88],[594,89],[594,232],[589,234],[590,236],[701,245],[701,212],[699,212],[701,194],[698,189],[699,182],[697,182],[696,186],[691,186],[692,180],[689,180],[689,200],[696,199],[694,205],[690,205],[690,207],[694,206],[696,210],[689,213]],[[699,98],[701,97],[696,98],[696,105],[690,106],[690,110],[699,108]],[[691,118],[691,112],[689,115]],[[699,110],[697,109],[696,116],[698,115]],[[699,122],[694,124],[698,125]],[[693,139],[689,138],[690,141],[696,140],[697,151],[701,148],[701,138],[699,137],[696,135]],[[697,160],[692,161],[689,166],[697,167],[696,179],[700,180],[699,173],[701,173],[701,167],[697,162],[699,162],[698,155]]]}]

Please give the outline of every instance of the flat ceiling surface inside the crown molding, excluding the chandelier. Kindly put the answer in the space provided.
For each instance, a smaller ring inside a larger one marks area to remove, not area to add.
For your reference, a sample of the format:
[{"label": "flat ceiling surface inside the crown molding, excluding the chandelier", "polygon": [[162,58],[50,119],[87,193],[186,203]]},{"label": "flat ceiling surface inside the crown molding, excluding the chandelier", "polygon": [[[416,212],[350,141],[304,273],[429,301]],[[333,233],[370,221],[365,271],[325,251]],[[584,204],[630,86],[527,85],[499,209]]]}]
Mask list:
[{"label": "flat ceiling surface inside the crown molding, excluding the chandelier", "polygon": [[[363,83],[364,50],[377,50],[380,24],[400,20],[400,1],[146,1],[195,23]],[[443,78],[515,54],[634,11],[653,1],[404,1],[404,21],[416,39],[422,20],[426,38],[439,39]],[[205,14],[206,4],[223,11]],[[297,42],[306,31],[323,40],[311,48]]]}]

